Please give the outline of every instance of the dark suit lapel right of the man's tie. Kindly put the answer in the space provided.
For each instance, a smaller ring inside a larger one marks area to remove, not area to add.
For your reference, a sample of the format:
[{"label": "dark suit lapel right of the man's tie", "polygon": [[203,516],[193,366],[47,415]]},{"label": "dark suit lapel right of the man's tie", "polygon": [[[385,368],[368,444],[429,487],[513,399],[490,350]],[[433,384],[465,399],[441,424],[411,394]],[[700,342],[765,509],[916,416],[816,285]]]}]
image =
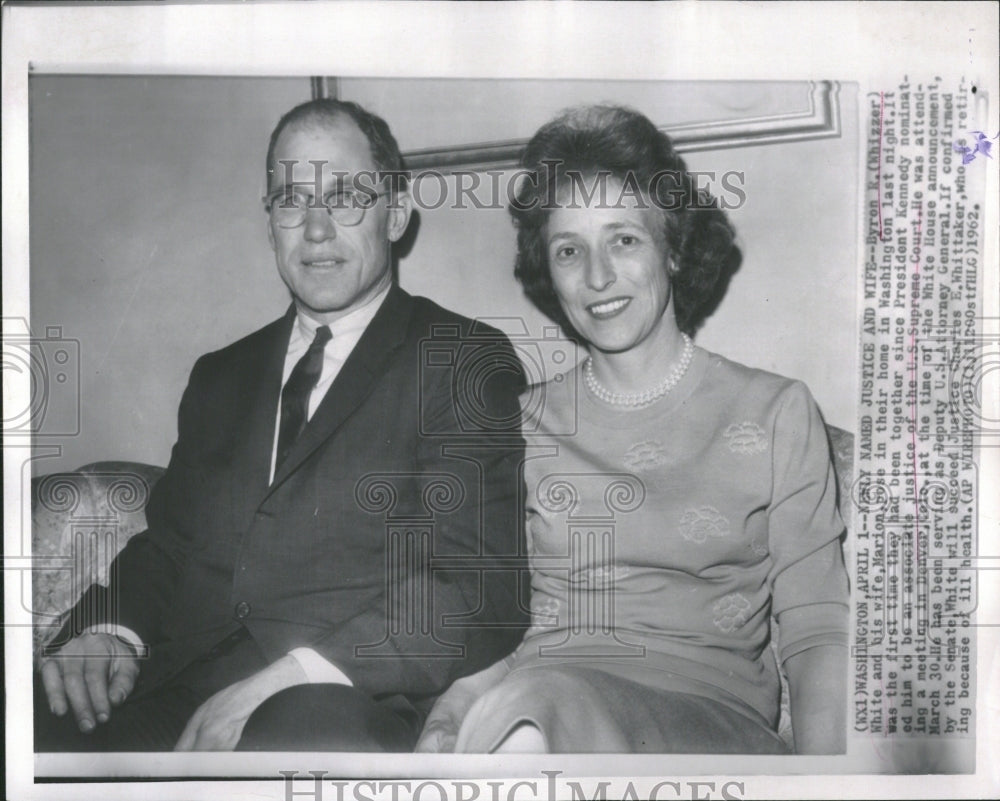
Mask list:
[{"label": "dark suit lapel right of the man's tie", "polygon": [[[399,287],[389,290],[315,414],[275,473],[268,496],[341,426],[371,392],[375,381],[382,376],[385,364],[406,338],[412,303],[410,295]],[[272,415],[276,408],[272,406]],[[271,429],[273,433],[273,416]]]}]

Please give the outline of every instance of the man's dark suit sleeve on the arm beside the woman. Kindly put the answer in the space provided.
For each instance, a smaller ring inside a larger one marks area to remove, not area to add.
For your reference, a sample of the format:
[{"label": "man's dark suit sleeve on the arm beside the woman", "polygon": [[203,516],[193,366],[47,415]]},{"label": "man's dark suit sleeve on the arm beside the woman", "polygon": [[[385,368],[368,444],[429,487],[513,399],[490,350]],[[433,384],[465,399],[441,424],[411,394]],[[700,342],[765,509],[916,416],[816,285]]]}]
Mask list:
[{"label": "man's dark suit sleeve on the arm beside the woman", "polygon": [[[440,693],[510,653],[527,628],[518,602],[527,575],[518,403],[524,376],[510,343],[498,337],[456,345],[454,380],[421,380],[413,460],[424,480],[401,503],[417,514],[432,510],[430,553],[407,558],[390,549],[384,607],[310,644],[372,695]],[[373,631],[385,633],[375,647]]]}]

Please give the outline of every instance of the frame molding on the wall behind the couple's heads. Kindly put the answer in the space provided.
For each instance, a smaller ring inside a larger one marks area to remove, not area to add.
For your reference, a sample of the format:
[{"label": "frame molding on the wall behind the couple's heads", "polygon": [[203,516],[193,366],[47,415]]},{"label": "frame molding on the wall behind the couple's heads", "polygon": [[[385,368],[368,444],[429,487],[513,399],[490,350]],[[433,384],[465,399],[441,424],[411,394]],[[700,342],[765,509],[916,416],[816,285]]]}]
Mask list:
[{"label": "frame molding on the wall behind the couple's heads", "polygon": [[[334,89],[328,96],[336,96],[335,78],[313,80],[328,82],[327,87]],[[314,83],[314,91],[316,86],[318,84]],[[805,109],[738,120],[663,125],[660,130],[670,135],[680,153],[838,137],[839,89],[836,81],[813,81]],[[404,153],[403,158],[410,170],[437,170],[445,175],[458,170],[504,169],[517,166],[527,142],[527,139],[514,139],[411,150]]]}]

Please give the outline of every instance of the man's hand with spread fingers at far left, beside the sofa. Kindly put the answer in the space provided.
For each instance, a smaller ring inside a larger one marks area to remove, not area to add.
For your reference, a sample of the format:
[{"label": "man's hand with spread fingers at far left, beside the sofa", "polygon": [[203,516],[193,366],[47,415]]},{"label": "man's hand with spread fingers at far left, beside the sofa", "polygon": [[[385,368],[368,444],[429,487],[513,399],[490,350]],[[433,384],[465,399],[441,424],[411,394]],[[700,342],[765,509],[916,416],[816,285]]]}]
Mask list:
[{"label": "man's hand with spread fingers at far left, beside the sofa", "polygon": [[72,709],[84,733],[111,717],[138,675],[134,651],[113,634],[81,634],[42,662],[49,708],[59,717]]}]

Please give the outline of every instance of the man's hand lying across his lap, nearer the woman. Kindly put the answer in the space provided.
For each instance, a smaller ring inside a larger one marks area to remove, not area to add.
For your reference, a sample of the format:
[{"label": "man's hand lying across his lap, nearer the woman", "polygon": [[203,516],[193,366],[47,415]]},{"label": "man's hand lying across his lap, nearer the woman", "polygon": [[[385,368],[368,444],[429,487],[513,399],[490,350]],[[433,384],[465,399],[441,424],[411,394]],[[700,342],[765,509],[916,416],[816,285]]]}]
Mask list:
[{"label": "man's hand lying across his lap, nearer the woman", "polygon": [[283,656],[250,678],[220,690],[198,707],[174,750],[232,751],[258,706],[275,693],[307,681],[298,660]]}]

